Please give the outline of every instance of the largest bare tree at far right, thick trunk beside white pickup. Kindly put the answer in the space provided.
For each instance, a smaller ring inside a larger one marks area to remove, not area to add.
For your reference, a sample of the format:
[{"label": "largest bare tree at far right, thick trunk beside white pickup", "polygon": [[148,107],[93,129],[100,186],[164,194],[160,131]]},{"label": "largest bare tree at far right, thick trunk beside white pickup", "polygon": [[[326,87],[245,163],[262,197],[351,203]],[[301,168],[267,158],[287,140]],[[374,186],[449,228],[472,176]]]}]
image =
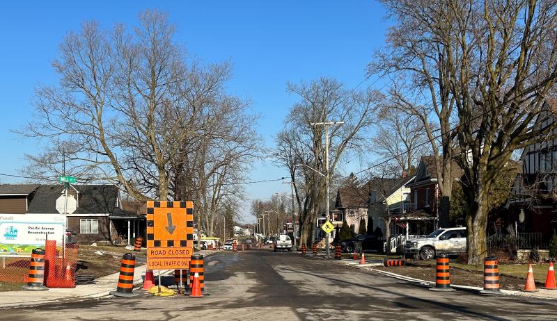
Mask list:
[{"label": "largest bare tree at far right, thick trunk beside white pickup", "polygon": [[[452,152],[445,146],[450,147],[453,137],[460,145],[462,183],[466,186],[464,197],[468,205],[468,260],[478,265],[487,254],[489,195],[496,181],[516,149],[547,139],[554,128],[554,123],[535,120],[547,108],[545,101],[555,90],[556,3],[535,0],[384,3],[400,21],[389,35],[395,40],[393,45],[404,47],[409,55],[421,50],[408,59],[418,66],[427,66],[436,75],[409,77],[408,81],[433,83],[428,85],[432,88],[432,99],[446,101],[446,106],[452,109],[446,109],[445,115],[457,116],[457,131],[448,130],[448,123],[439,117],[441,142],[448,156]],[[423,51],[424,47],[427,51]],[[448,140],[443,138],[445,134]],[[442,178],[450,183],[446,176]],[[441,185],[440,188],[446,195]]]}]

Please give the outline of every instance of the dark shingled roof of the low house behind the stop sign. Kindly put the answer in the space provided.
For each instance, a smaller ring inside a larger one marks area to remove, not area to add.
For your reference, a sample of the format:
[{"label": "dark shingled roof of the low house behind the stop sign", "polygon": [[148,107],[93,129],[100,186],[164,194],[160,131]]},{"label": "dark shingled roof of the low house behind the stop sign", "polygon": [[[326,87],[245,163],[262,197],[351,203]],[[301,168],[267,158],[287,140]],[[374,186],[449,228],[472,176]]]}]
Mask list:
[{"label": "dark shingled roof of the low house behind the stop sign", "polygon": [[[114,185],[76,185],[79,206],[75,214],[110,214],[116,208],[118,188]],[[60,185],[41,185],[37,188],[27,213],[58,213],[56,199],[63,192]]]}]

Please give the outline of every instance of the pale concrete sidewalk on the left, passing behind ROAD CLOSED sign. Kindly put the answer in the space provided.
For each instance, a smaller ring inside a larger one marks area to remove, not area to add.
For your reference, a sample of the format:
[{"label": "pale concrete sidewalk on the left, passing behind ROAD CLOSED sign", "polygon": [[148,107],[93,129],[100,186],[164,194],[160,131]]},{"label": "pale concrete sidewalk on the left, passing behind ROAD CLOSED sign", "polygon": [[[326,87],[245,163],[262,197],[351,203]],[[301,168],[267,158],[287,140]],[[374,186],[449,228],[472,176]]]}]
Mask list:
[{"label": "pale concrete sidewalk on the left, passing behind ROAD CLOSED sign", "polygon": [[[203,256],[209,256],[214,251],[196,252]],[[147,265],[139,265],[134,270],[134,290],[143,284],[143,276],[145,275]],[[173,273],[174,270],[162,270],[161,275]],[[109,292],[116,290],[118,276],[120,272],[107,275],[96,279],[96,284],[86,284],[76,286],[75,288],[51,288],[45,291],[6,291],[0,292],[0,309],[37,306],[40,304],[61,304],[64,302],[82,301],[84,299],[95,299],[109,296]],[[158,273],[155,272],[155,279]],[[23,286],[23,284],[22,284]]]}]

